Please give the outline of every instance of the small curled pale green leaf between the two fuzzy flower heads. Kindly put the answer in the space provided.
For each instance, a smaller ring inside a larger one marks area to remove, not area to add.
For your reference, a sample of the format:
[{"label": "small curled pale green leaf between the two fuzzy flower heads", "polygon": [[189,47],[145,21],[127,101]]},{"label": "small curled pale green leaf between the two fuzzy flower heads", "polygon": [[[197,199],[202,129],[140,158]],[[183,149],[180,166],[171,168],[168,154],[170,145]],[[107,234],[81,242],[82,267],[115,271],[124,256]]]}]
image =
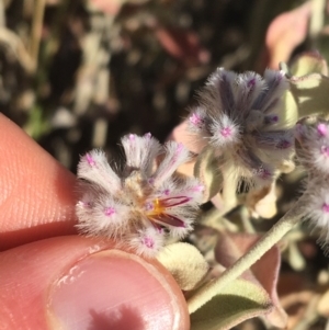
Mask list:
[{"label": "small curled pale green leaf between the two fuzzy flower heads", "polygon": [[204,185],[203,203],[208,202],[220,190],[223,175],[219,170],[218,159],[215,157],[215,150],[206,147],[198,155],[194,166],[194,177],[200,179]]}]

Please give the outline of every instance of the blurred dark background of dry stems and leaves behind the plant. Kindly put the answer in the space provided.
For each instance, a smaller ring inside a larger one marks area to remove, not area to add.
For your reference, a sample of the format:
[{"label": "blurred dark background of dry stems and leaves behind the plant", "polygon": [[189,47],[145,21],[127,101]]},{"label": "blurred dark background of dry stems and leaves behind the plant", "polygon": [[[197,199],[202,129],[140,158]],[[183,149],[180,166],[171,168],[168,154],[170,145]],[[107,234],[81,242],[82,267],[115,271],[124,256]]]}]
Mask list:
[{"label": "blurred dark background of dry stems and leaves behind the plant", "polygon": [[[328,15],[326,0],[1,0],[0,109],[75,172],[91,148],[121,156],[127,133],[163,141],[217,67],[262,73],[306,50],[328,60]],[[288,329],[325,329],[328,259],[302,231],[288,240]]]}]

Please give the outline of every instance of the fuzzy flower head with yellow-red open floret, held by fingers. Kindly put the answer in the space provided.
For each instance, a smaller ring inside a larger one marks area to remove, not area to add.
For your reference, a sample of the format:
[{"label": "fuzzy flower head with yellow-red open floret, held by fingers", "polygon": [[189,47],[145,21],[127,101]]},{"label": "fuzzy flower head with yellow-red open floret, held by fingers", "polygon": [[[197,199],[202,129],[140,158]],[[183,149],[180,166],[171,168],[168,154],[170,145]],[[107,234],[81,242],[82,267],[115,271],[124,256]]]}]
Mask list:
[{"label": "fuzzy flower head with yellow-red open floret, held by fingers", "polygon": [[114,171],[103,151],[81,157],[77,227],[154,257],[166,238],[182,238],[191,231],[202,198],[201,184],[175,174],[189,160],[181,144],[170,141],[163,148],[150,134],[131,134],[122,138],[122,145],[126,156],[122,173]]}]

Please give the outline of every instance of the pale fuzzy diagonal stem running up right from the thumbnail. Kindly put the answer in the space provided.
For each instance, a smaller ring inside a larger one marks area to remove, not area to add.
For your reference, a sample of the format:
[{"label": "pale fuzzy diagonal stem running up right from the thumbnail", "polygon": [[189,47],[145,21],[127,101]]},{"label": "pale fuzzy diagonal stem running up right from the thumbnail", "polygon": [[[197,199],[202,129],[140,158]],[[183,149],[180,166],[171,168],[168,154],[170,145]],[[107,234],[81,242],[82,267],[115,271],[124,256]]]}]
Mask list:
[{"label": "pale fuzzy diagonal stem running up right from the thumbnail", "polygon": [[190,314],[215,297],[223,287],[236,280],[257,262],[266,251],[277,243],[294,225],[303,217],[305,198],[303,196],[245,255],[227,269],[218,278],[215,278],[200,289],[188,300]]}]

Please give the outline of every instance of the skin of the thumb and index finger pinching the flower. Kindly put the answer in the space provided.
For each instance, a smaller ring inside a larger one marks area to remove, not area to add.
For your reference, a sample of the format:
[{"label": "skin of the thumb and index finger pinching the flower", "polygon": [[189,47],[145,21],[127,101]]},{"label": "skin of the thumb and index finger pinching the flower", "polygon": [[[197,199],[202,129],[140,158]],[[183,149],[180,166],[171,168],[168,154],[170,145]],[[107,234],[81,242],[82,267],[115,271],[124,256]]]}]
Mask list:
[{"label": "skin of the thumb and index finger pinching the flower", "polygon": [[189,329],[184,297],[161,264],[76,235],[75,182],[0,115],[3,329]]}]

